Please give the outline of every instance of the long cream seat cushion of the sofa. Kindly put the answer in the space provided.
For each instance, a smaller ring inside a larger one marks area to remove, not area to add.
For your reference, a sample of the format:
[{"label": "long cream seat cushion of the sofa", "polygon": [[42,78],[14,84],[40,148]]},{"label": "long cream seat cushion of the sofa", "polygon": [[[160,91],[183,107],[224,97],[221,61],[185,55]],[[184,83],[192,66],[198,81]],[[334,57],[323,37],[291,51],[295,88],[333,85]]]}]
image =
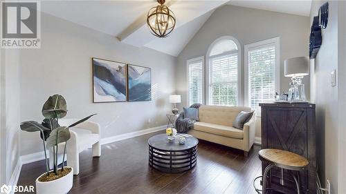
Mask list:
[{"label": "long cream seat cushion of the sofa", "polygon": [[224,137],[231,137],[235,139],[244,139],[244,131],[234,128],[232,126],[224,126],[219,124],[210,124],[206,122],[195,122],[194,130],[221,135]]}]

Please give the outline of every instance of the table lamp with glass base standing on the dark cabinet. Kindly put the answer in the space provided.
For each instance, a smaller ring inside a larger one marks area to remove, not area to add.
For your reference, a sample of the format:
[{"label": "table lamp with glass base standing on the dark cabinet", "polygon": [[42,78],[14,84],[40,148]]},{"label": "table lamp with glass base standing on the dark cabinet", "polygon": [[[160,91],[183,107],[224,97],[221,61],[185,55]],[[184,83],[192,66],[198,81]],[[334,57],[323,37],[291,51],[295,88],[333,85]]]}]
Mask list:
[{"label": "table lamp with glass base standing on the dark cabinet", "polygon": [[302,84],[302,78],[306,75],[309,75],[308,57],[294,57],[284,61],[284,76],[291,77],[292,79],[291,89],[289,91],[292,94],[291,98],[289,97],[289,101],[307,101],[304,84]]}]

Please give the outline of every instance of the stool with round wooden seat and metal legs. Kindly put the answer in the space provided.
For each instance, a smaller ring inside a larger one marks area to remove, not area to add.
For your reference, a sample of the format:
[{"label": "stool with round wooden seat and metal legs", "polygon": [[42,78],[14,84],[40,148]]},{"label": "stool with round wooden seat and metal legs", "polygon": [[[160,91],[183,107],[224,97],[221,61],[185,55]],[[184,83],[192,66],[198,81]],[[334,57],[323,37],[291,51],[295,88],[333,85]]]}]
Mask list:
[{"label": "stool with round wooden seat and metal legs", "polygon": [[[295,171],[295,175],[291,175],[293,176],[295,185],[297,186],[297,193],[300,194],[300,179],[298,171],[304,171],[305,167],[307,167],[307,165],[309,164],[307,159],[305,159],[301,155],[277,149],[262,149],[258,154],[261,160],[266,160],[266,162],[269,162],[269,165],[266,166],[263,173],[263,194],[266,194],[266,190],[268,189],[266,188],[266,179],[268,172],[271,171],[271,168],[275,166],[281,168],[281,185],[284,185],[284,169],[289,171]],[[271,177],[269,177],[269,180],[270,179]]]}]

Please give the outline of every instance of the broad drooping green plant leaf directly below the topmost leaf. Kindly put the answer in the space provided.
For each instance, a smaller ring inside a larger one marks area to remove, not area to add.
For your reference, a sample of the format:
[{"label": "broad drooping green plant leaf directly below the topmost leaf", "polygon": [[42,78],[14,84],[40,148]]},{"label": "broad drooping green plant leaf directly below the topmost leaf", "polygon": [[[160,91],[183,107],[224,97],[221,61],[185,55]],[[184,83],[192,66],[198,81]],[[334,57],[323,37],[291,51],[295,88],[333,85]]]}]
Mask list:
[{"label": "broad drooping green plant leaf directly below the topmost leaf", "polygon": [[71,137],[70,130],[67,126],[60,126],[52,130],[51,135],[49,135],[47,142],[47,149],[57,146],[62,142],[66,142]]}]

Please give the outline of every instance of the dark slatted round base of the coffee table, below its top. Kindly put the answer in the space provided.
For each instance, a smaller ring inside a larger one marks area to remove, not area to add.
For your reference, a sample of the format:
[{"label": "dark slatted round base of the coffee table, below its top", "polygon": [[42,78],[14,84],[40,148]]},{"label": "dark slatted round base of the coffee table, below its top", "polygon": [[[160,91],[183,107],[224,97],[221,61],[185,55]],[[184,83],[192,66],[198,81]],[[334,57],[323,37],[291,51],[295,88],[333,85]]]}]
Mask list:
[{"label": "dark slatted round base of the coffee table, below its top", "polygon": [[166,151],[149,145],[149,166],[165,173],[181,173],[197,164],[197,145],[183,151]]}]

